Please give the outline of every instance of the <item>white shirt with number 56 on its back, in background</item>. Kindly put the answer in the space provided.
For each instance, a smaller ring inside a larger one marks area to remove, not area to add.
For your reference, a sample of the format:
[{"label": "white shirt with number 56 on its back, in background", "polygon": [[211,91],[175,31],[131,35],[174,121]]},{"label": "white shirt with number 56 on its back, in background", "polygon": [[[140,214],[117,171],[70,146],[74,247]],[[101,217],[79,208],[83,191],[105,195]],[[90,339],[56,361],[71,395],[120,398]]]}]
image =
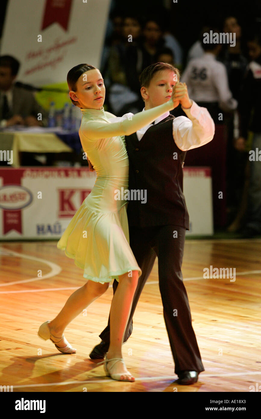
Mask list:
[{"label": "white shirt with number 56 on its back, in background", "polygon": [[189,97],[196,102],[218,102],[223,111],[232,111],[238,106],[229,89],[226,67],[211,52],[191,59],[181,82],[186,83]]}]

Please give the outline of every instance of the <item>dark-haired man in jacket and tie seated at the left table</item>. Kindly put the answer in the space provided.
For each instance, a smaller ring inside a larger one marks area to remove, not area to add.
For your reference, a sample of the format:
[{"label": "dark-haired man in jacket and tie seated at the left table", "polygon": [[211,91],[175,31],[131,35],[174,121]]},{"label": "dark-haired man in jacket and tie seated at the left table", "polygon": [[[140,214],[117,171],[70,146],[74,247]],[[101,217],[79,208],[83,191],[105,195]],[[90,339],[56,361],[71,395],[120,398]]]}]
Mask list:
[{"label": "dark-haired man in jacket and tie seated at the left table", "polygon": [[[0,127],[12,125],[42,126],[47,114],[37,103],[31,91],[15,85],[19,61],[10,55],[0,57]],[[42,115],[42,121],[38,120]]]}]

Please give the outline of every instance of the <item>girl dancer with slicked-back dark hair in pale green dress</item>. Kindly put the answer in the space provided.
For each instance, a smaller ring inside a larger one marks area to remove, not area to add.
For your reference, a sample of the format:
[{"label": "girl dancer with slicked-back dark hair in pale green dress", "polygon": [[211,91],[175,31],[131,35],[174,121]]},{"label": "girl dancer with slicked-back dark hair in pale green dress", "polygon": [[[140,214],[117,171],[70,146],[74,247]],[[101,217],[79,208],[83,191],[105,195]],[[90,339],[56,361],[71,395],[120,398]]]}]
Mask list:
[{"label": "girl dancer with slicked-back dark hair in pale green dress", "polygon": [[[104,111],[105,87],[100,71],[80,64],[67,75],[70,98],[83,116],[79,129],[83,150],[88,155],[97,178],[93,189],[75,213],[57,248],[75,260],[88,279],[67,300],[60,313],[43,323],[38,335],[51,339],[65,354],[76,352],[65,339],[66,326],[109,287],[119,282],[111,302],[110,347],[104,369],[114,380],[134,381],[122,358],[121,346],[129,318],[134,292],[141,269],[129,246],[129,228],[125,199],[116,199],[116,192],[128,188],[129,159],[125,135],[153,122],[160,115],[178,106],[173,88],[171,99],[160,106],[124,118]],[[173,82],[173,86],[175,82]],[[116,118],[117,122],[114,122]],[[62,337],[59,337],[62,336]]]}]

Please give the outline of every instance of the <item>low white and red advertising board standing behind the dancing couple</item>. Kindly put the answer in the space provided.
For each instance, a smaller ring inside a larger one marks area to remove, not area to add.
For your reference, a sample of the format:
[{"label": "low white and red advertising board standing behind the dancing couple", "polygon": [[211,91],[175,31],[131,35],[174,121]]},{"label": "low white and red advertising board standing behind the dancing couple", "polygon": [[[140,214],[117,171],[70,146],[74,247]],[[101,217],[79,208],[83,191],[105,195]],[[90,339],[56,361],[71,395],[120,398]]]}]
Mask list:
[{"label": "low white and red advertising board standing behind the dancing couple", "polygon": [[[191,235],[212,235],[208,168],[184,168]],[[59,240],[96,181],[86,168],[0,168],[0,240]]]}]

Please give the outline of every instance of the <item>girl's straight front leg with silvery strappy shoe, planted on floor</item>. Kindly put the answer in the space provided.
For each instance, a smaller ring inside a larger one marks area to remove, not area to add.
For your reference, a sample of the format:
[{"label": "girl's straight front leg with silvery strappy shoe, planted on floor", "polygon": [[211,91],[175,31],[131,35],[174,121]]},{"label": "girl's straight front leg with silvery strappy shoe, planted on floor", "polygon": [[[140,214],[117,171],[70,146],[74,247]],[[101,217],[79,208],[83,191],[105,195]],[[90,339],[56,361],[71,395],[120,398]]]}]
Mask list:
[{"label": "girl's straight front leg with silvery strappy shoe, planted on floor", "polygon": [[[121,346],[127,322],[129,320],[137,282],[138,271],[132,271],[132,277],[129,277],[128,273],[119,275],[119,285],[111,302],[110,347],[107,352],[108,360],[110,358],[122,358]],[[108,362],[108,368],[110,368],[113,364],[114,361]],[[112,374],[122,372],[121,379],[124,379],[126,378],[124,373],[126,374],[128,370],[122,362],[116,362],[116,364],[111,367],[110,372]],[[131,380],[131,378],[129,378],[129,380]]]}]

